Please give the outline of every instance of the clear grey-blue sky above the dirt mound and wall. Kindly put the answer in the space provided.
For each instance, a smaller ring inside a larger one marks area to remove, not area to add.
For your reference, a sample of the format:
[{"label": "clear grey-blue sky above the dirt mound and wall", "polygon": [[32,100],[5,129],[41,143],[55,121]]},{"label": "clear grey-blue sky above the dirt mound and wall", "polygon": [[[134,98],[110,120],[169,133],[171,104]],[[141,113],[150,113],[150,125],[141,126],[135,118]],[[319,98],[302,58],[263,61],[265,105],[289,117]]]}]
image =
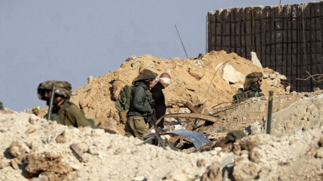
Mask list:
[{"label": "clear grey-blue sky above the dirt mound and wall", "polygon": [[[282,0],[282,4],[313,1]],[[279,0],[0,0],[0,101],[15,111],[44,107],[40,82],[85,85],[133,54],[186,58],[205,53],[207,12],[279,5]]]}]

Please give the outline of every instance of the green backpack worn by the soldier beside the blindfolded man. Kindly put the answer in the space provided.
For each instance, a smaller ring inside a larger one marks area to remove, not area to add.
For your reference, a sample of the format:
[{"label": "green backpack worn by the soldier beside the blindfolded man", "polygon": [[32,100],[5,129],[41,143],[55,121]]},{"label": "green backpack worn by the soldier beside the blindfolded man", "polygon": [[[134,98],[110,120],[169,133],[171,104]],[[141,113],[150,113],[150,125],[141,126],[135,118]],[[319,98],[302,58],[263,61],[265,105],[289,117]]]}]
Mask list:
[{"label": "green backpack worn by the soldier beside the blindfolded man", "polygon": [[132,97],[132,87],[125,85],[120,91],[119,97],[116,100],[116,108],[119,111],[126,111],[130,108]]}]

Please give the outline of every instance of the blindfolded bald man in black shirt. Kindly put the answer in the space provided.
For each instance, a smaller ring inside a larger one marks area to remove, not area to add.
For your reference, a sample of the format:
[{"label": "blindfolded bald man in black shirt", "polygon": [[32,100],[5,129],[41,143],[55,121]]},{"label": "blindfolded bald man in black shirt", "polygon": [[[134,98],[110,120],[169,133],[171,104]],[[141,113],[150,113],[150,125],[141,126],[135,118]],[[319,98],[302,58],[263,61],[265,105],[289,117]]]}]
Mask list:
[{"label": "blindfolded bald man in black shirt", "polygon": [[[163,93],[163,89],[171,84],[171,76],[168,73],[163,73],[160,75],[157,83],[151,88],[150,92],[152,94],[152,99],[155,102],[155,111],[156,111],[156,119],[165,115],[166,113],[166,104],[165,104],[165,96]],[[164,128],[164,118],[160,120],[157,124],[157,127]]]}]

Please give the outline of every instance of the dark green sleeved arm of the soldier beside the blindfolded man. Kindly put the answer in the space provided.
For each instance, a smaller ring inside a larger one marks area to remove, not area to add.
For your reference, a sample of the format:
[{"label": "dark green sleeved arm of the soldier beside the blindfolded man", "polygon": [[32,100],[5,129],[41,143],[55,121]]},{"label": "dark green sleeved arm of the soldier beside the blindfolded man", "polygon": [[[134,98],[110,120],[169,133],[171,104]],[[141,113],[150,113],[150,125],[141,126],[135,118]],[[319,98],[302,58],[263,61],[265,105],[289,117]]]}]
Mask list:
[{"label": "dark green sleeved arm of the soldier beside the blindfolded man", "polygon": [[146,101],[146,92],[144,88],[136,87],[133,94],[132,105],[135,109],[142,112],[148,112],[151,109],[149,103]]}]

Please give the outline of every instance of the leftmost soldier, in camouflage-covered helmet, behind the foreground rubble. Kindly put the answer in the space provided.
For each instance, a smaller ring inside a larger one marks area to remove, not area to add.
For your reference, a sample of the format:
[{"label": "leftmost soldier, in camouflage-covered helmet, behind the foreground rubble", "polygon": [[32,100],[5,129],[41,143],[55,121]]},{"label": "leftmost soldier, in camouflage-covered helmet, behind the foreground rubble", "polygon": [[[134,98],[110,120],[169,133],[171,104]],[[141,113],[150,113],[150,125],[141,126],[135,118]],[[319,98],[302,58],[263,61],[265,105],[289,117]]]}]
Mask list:
[{"label": "leftmost soldier, in camouflage-covered helmet, behind the foreground rubble", "polygon": [[[49,120],[55,120],[57,123],[74,127],[94,127],[92,119],[87,119],[84,112],[80,110],[73,102],[69,101],[71,98],[72,86],[66,81],[50,80],[39,84],[37,88],[37,95],[40,100],[45,100],[46,105],[50,104],[50,96],[52,94],[52,84],[56,84],[55,95],[52,101],[52,111],[48,118],[48,113],[44,116]],[[32,112],[41,117],[41,112],[35,108]]]}]

